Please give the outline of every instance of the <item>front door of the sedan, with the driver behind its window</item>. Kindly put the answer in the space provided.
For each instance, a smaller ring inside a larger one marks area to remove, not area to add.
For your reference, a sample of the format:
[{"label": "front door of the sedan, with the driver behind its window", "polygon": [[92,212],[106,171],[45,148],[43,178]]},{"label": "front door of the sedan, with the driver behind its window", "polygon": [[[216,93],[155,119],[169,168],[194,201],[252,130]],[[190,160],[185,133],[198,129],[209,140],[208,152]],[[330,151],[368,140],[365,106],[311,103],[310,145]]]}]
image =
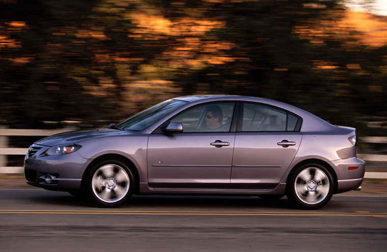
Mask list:
[{"label": "front door of the sedan, with the driver behind its window", "polygon": [[171,122],[183,132],[151,134],[148,181],[153,188],[230,186],[235,132],[230,132],[234,103],[210,103],[183,111]]}]

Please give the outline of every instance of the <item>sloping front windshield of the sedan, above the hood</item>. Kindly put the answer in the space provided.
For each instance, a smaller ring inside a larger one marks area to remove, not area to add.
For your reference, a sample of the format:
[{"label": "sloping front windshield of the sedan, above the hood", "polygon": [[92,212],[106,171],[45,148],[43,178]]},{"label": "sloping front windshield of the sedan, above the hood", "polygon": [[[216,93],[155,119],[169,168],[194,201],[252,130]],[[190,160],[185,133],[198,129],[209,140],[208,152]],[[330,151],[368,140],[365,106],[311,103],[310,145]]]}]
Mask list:
[{"label": "sloping front windshield of the sedan, above the hood", "polygon": [[185,104],[187,104],[186,101],[167,100],[145,109],[139,114],[122,121],[116,126],[130,131],[141,131]]}]

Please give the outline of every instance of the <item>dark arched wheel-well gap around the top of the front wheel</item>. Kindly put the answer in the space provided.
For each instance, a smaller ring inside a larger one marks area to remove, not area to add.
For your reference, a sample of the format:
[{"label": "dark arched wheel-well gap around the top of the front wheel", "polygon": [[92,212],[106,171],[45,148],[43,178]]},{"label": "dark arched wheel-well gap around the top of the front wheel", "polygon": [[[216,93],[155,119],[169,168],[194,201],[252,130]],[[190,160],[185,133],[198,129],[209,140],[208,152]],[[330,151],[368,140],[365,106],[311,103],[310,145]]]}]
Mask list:
[{"label": "dark arched wheel-well gap around the top of the front wheel", "polygon": [[137,167],[134,165],[134,163],[129,158],[122,156],[122,155],[119,155],[119,154],[104,154],[104,155],[101,155],[101,156],[95,158],[93,161],[91,161],[91,163],[87,166],[84,174],[82,175],[80,188],[84,188],[86,176],[89,173],[89,171],[97,163],[102,162],[104,160],[117,160],[117,161],[121,161],[121,162],[125,163],[129,167],[130,171],[133,173],[133,176],[134,176],[135,186],[134,186],[133,193],[134,194],[139,193],[139,191],[140,191],[140,176],[139,176],[139,172],[137,171]]}]

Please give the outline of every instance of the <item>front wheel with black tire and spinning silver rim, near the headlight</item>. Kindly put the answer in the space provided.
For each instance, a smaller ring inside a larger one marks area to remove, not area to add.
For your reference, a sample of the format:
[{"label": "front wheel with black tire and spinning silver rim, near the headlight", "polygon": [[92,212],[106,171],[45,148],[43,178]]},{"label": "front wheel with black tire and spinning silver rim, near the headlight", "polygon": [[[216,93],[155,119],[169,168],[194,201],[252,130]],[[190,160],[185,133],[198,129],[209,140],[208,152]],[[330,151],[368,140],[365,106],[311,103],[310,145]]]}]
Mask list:
[{"label": "front wheel with black tire and spinning silver rim, near the headlight", "polygon": [[134,177],[129,167],[118,160],[96,164],[87,174],[88,199],[101,207],[118,207],[131,197]]}]

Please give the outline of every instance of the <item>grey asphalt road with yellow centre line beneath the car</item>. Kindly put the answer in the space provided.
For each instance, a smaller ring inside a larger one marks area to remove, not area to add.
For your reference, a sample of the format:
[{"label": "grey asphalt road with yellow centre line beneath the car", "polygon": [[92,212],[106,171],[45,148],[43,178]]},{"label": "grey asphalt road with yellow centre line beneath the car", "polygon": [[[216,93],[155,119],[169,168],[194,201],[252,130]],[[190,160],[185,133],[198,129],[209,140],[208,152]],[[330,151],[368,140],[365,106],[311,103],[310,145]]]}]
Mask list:
[{"label": "grey asphalt road with yellow centre line beneath the car", "polygon": [[0,188],[0,251],[385,251],[387,195],[334,195],[320,210],[286,197],[133,197],[94,208],[66,192]]}]

